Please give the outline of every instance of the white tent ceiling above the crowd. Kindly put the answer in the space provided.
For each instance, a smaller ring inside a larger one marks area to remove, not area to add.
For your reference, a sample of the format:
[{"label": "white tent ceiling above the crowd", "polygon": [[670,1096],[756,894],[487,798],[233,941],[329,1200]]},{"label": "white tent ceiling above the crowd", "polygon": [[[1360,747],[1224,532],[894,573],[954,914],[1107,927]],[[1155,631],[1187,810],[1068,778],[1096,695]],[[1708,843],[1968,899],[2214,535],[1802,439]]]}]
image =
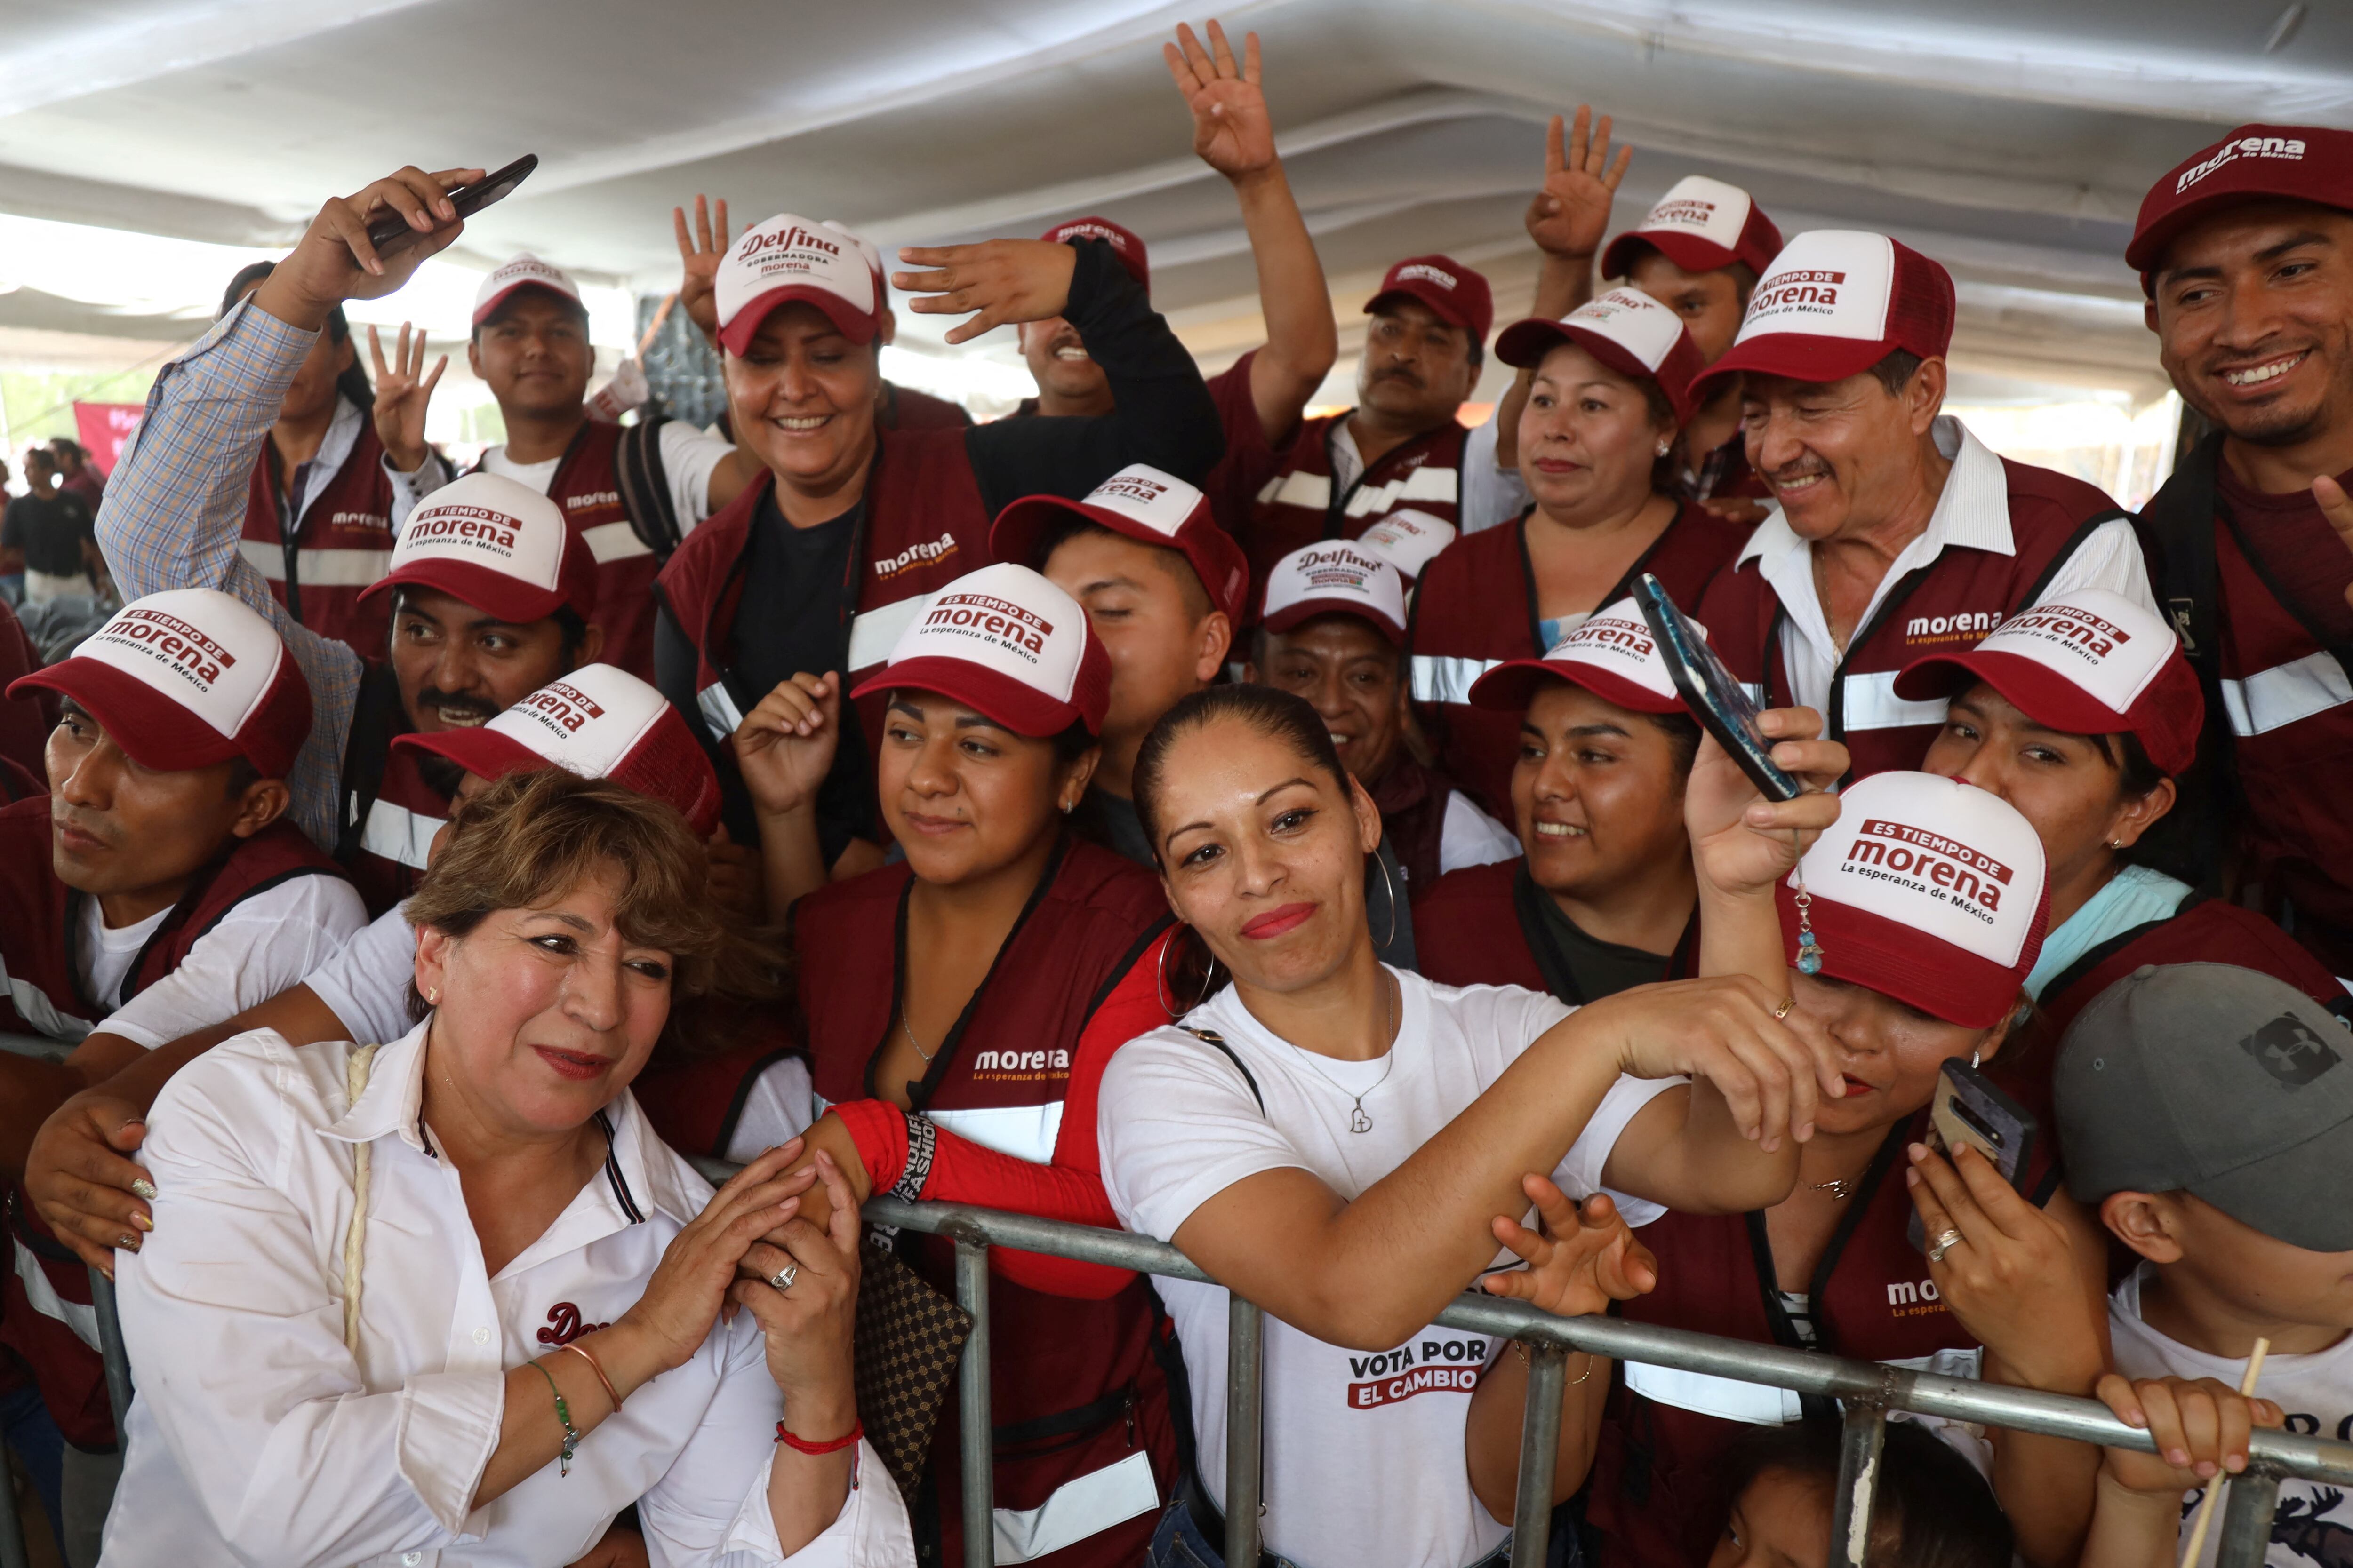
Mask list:
[{"label": "white tent ceiling above the crowd", "polygon": [[[2341,0],[1259,0],[1221,16],[1264,35],[1344,315],[1414,249],[1487,268],[1499,308],[1525,306],[1541,125],[1591,99],[1635,146],[1619,223],[1704,172],[1748,186],[1784,233],[1880,228],[1953,268],[1965,369],[2134,395],[2162,386],[2118,259],[2148,181],[2240,120],[2353,127]],[[1191,158],[1160,63],[1198,7],[5,0],[0,19],[7,214],[273,247],[320,195],[395,162],[536,150],[541,172],[466,235],[478,266],[527,247],[661,292],[668,209],[696,190],[885,244],[1101,212],[1151,242],[1155,299],[1205,364],[1257,341],[1233,200]],[[176,320],[19,287],[0,327],[186,336],[219,282],[158,284]],[[901,341],[936,341],[901,322]]]}]

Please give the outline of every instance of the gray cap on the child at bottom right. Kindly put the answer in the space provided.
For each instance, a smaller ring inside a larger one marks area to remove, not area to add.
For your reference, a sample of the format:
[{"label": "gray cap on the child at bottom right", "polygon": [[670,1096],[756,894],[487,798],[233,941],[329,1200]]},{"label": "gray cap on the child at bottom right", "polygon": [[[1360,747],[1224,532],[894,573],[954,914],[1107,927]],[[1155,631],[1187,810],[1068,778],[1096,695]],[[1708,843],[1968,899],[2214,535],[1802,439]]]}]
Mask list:
[{"label": "gray cap on the child at bottom right", "polygon": [[2144,964],[2075,1016],[2052,1093],[2075,1199],[2191,1192],[2313,1253],[2353,1251],[2353,1037],[2285,980]]}]

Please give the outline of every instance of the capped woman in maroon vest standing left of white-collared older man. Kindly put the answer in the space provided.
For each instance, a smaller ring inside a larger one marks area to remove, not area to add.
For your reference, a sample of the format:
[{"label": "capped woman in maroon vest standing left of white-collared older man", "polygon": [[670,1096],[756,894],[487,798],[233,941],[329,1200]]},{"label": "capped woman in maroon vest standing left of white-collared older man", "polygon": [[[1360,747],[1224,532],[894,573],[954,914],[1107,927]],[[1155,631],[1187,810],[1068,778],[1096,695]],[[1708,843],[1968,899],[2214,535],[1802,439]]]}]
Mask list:
[{"label": "capped woman in maroon vest standing left of white-collared older man", "polygon": [[1480,710],[1471,682],[1506,658],[1541,658],[1652,571],[1697,607],[1741,529],[1664,489],[1659,458],[1692,414],[1699,350],[1675,313],[1612,289],[1558,322],[1506,327],[1494,353],[1537,371],[1520,414],[1520,477],[1534,505],[1466,534],[1414,590],[1414,703],[1447,773],[1511,816],[1515,715]]}]

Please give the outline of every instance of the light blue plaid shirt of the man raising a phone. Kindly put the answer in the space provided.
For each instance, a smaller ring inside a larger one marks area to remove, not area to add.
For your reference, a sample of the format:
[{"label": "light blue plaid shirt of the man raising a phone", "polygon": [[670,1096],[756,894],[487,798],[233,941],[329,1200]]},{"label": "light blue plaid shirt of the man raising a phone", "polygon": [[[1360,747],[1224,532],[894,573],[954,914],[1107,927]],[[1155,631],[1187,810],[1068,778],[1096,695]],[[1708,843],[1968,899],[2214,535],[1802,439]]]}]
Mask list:
[{"label": "light blue plaid shirt of the man raising a phone", "polygon": [[287,327],[245,301],[165,364],[139,433],[106,482],[99,550],[125,599],[219,588],[271,618],[311,682],[311,738],[287,776],[292,818],[311,842],[334,849],[360,656],[299,625],[238,550],[254,454],[315,341],[315,331]]}]

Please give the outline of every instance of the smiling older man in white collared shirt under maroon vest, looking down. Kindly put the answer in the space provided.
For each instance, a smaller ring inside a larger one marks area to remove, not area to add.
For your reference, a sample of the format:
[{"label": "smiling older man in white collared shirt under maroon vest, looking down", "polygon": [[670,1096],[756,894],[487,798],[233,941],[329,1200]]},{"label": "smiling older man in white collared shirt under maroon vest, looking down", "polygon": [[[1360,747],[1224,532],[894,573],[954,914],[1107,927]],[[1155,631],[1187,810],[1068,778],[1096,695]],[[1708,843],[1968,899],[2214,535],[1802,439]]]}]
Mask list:
[{"label": "smiling older man in white collared shirt under maroon vest, looking down", "polygon": [[1777,508],[1699,618],[1767,708],[1819,708],[1849,778],[1918,769],[1944,703],[1897,672],[2019,609],[2108,588],[2155,609],[2125,512],[1993,456],[1944,407],[1953,280],[1885,235],[1814,230],[1774,259],[1741,336],[1694,386],[1744,374],[1748,463]]}]

